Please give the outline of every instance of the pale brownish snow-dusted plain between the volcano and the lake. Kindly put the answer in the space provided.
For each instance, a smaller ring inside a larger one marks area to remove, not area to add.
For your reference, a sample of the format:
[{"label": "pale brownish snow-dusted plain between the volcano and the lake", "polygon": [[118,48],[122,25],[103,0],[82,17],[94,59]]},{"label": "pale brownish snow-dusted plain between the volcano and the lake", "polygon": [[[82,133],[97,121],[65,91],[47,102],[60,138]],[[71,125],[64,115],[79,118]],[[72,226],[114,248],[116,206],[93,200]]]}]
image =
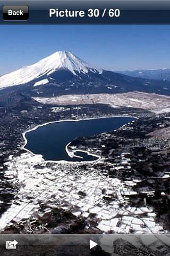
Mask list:
[{"label": "pale brownish snow-dusted plain between the volcano and the lake", "polygon": [[170,97],[144,92],[62,95],[54,98],[37,97],[34,99],[40,103],[58,106],[104,103],[112,107],[142,108],[156,114],[170,111]]}]

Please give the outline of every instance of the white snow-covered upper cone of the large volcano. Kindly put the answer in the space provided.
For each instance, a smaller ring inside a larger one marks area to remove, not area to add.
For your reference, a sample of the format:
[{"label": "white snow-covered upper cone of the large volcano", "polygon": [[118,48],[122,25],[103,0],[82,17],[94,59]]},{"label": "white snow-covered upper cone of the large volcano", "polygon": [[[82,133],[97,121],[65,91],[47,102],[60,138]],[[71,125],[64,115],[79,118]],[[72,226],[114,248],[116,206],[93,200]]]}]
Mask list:
[{"label": "white snow-covered upper cone of the large volcano", "polygon": [[89,71],[101,74],[103,71],[81,60],[71,52],[57,51],[33,65],[1,76],[0,88],[29,83],[44,76],[49,77],[50,74],[60,69],[67,69],[74,75],[77,73],[87,74]]}]

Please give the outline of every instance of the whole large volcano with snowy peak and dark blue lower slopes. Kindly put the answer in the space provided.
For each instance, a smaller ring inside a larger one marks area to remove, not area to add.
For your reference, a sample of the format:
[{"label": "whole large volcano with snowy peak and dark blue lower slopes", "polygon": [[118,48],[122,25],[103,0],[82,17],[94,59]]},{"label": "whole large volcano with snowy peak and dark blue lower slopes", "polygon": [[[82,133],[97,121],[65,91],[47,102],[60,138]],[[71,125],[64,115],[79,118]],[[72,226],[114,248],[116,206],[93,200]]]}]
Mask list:
[{"label": "whole large volcano with snowy peak and dark blue lower slopes", "polygon": [[118,74],[97,68],[71,52],[58,51],[0,77],[0,94],[24,93],[53,97],[61,94],[143,91],[170,95],[170,82]]}]

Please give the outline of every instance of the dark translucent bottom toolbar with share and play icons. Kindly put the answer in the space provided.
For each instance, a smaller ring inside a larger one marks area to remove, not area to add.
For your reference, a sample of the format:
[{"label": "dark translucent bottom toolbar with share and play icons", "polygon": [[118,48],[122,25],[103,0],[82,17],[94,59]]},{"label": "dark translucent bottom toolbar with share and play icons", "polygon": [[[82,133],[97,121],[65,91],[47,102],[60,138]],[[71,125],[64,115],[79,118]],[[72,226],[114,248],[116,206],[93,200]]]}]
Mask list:
[{"label": "dark translucent bottom toolbar with share and play icons", "polygon": [[170,255],[170,235],[0,235],[0,255]]}]

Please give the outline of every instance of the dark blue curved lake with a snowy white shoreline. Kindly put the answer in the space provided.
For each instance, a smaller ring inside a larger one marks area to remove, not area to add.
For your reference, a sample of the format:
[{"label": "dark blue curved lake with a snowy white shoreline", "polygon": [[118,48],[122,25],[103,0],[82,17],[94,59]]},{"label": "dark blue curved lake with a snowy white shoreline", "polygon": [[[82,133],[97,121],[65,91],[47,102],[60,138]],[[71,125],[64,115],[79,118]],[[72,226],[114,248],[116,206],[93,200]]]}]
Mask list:
[{"label": "dark blue curved lake with a snowy white shoreline", "polygon": [[43,155],[45,160],[94,161],[98,159],[96,156],[88,155],[82,151],[75,153],[82,158],[70,157],[65,150],[66,145],[77,137],[113,131],[133,120],[135,118],[132,117],[107,117],[49,123],[25,133],[27,139],[25,148],[33,154]]}]

